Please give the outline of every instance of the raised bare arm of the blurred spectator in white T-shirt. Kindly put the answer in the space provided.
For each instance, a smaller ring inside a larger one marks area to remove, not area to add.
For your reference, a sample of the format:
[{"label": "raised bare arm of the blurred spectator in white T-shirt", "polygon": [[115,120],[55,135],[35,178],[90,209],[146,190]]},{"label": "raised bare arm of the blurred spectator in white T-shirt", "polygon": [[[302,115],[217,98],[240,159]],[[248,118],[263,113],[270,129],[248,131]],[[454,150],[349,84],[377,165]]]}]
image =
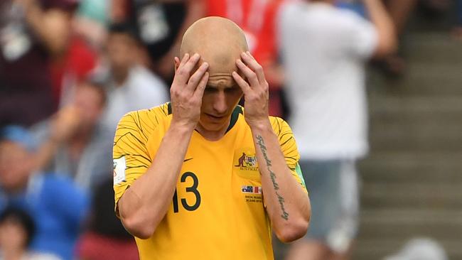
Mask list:
[{"label": "raised bare arm of the blurred spectator in white T-shirt", "polygon": [[397,48],[396,30],[384,4],[379,0],[363,1],[378,35],[377,48],[373,55],[383,57],[394,53]]}]

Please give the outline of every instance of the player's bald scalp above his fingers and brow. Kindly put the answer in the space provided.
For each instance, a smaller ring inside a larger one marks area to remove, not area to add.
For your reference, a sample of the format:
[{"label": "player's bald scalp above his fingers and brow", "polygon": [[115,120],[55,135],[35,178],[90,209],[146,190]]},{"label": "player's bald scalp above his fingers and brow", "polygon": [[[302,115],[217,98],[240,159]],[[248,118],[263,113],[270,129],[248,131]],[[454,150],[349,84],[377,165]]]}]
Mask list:
[{"label": "player's bald scalp above his fingers and brow", "polygon": [[201,18],[186,30],[181,42],[181,57],[199,53],[201,62],[209,64],[210,80],[217,75],[237,71],[235,62],[248,50],[244,32],[227,18]]}]

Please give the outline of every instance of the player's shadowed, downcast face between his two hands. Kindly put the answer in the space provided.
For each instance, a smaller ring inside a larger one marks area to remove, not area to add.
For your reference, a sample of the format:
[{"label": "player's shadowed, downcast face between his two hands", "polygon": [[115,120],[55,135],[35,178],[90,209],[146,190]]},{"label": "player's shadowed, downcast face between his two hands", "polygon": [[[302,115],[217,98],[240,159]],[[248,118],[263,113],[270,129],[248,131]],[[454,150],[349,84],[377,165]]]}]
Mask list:
[{"label": "player's shadowed, downcast face between his two hands", "polygon": [[207,131],[227,129],[232,111],[242,97],[242,90],[229,73],[211,70],[200,108],[199,124]]}]

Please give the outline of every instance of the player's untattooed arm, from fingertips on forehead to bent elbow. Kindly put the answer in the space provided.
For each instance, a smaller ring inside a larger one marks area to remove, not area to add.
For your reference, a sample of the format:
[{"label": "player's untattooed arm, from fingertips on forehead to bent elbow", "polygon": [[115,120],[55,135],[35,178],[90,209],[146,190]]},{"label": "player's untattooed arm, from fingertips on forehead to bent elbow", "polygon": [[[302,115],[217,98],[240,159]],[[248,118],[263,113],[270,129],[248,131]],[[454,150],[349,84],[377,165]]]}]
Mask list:
[{"label": "player's untattooed arm, from fingertips on forehead to bent elbow", "polygon": [[203,91],[208,81],[207,63],[190,77],[199,58],[198,54],[191,58],[185,55],[181,63],[175,59],[177,69],[171,86],[171,125],[151,166],[131,184],[118,203],[124,227],[141,239],[154,234],[171,205],[190,137],[199,120]]}]

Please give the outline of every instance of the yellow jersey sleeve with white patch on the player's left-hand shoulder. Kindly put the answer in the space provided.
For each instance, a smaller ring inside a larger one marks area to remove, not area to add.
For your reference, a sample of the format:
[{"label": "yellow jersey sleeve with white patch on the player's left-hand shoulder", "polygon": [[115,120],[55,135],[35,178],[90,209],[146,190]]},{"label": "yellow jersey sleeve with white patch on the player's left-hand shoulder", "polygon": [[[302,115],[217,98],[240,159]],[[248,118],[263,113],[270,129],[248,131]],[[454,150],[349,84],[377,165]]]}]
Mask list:
[{"label": "yellow jersey sleeve with white patch on the player's left-hand shoulder", "polygon": [[151,165],[146,149],[147,136],[141,129],[139,114],[131,112],[120,119],[114,136],[114,200],[117,204],[131,183]]}]

